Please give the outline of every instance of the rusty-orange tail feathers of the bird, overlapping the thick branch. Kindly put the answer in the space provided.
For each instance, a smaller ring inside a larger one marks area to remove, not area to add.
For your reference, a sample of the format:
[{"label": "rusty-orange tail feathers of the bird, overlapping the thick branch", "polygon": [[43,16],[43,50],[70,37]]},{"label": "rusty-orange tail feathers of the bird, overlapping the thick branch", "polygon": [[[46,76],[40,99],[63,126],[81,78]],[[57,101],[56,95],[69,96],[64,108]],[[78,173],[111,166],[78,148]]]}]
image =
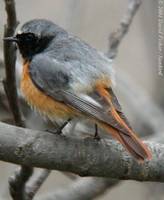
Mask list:
[{"label": "rusty-orange tail feathers of the bird, overlapping the thick branch", "polygon": [[121,127],[126,130],[126,132],[121,132],[120,130],[113,128],[112,126],[100,123],[108,133],[117,139],[127,150],[132,154],[139,162],[143,162],[144,159],[150,160],[152,158],[151,152],[148,147],[135,135],[135,133],[129,128],[125,121],[120,117],[119,113],[114,108],[110,94],[106,89],[99,90],[99,94],[103,96],[110,104],[110,115],[121,125]]}]

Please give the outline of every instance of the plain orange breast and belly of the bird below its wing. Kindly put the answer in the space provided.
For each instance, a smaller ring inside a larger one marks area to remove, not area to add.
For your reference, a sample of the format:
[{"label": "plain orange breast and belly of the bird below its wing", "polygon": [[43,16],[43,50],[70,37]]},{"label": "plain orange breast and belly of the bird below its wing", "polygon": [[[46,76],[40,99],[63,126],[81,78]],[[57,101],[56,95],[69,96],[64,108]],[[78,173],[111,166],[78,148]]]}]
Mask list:
[{"label": "plain orange breast and belly of the bird below its wing", "polygon": [[62,119],[75,117],[75,110],[45,95],[33,84],[28,69],[29,63],[26,62],[23,66],[21,91],[28,104],[36,108],[40,113],[46,115],[50,119],[56,117]]}]

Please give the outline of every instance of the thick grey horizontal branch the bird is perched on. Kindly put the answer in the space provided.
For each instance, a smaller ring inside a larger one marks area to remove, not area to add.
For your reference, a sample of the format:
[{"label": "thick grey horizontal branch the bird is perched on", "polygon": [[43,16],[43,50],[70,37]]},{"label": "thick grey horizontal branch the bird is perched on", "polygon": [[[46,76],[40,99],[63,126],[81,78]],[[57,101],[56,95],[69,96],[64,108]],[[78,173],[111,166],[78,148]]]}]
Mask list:
[{"label": "thick grey horizontal branch the bird is perched on", "polygon": [[164,182],[164,145],[147,142],[153,158],[137,163],[113,140],[75,139],[0,123],[0,160],[80,176]]}]

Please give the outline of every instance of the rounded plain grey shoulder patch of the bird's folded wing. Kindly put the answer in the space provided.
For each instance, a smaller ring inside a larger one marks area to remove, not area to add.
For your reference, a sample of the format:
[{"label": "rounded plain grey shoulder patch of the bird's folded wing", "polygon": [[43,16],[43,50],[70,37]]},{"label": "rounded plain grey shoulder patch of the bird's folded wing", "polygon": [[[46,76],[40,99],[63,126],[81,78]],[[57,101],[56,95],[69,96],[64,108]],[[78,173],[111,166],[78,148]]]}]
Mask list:
[{"label": "rounded plain grey shoulder patch of the bird's folded wing", "polygon": [[62,101],[58,95],[60,90],[67,90],[71,77],[63,70],[63,66],[57,60],[47,56],[37,55],[33,58],[30,68],[30,77],[33,83],[45,94]]}]

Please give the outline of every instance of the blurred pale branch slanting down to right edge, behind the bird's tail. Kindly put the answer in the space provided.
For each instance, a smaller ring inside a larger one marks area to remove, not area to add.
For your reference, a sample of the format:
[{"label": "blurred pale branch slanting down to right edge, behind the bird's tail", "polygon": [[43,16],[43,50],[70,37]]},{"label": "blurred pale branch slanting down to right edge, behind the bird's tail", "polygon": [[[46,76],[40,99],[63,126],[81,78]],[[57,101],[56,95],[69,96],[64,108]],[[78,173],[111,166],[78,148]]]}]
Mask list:
[{"label": "blurred pale branch slanting down to right edge, behind the bird's tail", "polygon": [[[121,69],[117,69],[118,74],[121,76],[117,77],[118,88],[120,94],[126,97],[128,105],[135,113],[136,116],[140,116],[140,120],[150,125],[155,133],[153,140],[161,140],[162,132],[164,130],[164,113],[162,110],[151,100],[147,95],[146,91],[142,87],[134,84],[128,73]],[[148,108],[148,109],[147,109]],[[144,110],[144,112],[142,112]]]}]

